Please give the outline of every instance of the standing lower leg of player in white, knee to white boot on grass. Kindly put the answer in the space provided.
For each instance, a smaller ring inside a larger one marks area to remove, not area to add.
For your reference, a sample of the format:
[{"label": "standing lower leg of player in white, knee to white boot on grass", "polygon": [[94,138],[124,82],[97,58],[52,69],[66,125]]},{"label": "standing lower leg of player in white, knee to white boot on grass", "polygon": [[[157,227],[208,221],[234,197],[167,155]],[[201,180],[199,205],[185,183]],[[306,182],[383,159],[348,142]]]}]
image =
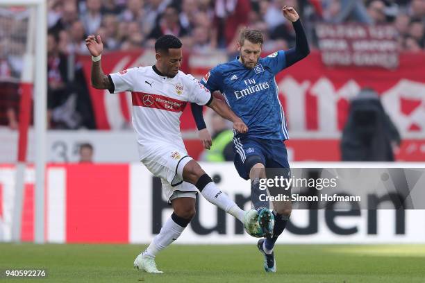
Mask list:
[{"label": "standing lower leg of player in white, knee to white boot on grass", "polygon": [[[195,211],[196,194],[194,192],[174,192],[175,198],[171,200],[174,212],[167,219],[160,233],[157,234],[150,245],[134,261],[135,268],[146,271],[147,273],[163,273],[156,266],[155,257],[160,250],[171,245],[188,226],[192,220]],[[178,197],[181,194],[183,197]],[[184,197],[190,194],[190,197]]]}]

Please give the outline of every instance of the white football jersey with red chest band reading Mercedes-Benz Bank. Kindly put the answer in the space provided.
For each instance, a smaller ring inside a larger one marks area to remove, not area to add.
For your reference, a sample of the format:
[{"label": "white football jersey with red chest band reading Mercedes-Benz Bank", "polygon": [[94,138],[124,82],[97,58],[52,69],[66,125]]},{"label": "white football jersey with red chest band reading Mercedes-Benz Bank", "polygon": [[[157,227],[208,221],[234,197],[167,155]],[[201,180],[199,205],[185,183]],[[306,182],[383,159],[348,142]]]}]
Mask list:
[{"label": "white football jersey with red chest band reading Mercedes-Benz Bank", "polygon": [[178,71],[174,78],[160,76],[152,66],[136,67],[110,74],[111,93],[131,92],[132,122],[140,160],[158,146],[174,144],[185,148],[180,117],[188,103],[206,105],[210,91],[191,75]]}]

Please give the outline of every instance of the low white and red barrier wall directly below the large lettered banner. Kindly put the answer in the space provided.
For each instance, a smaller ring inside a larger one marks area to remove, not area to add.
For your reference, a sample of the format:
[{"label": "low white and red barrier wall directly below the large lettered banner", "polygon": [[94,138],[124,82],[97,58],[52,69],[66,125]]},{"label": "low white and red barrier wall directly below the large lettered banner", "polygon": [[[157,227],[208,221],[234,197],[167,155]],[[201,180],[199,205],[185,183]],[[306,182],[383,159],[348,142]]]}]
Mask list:
[{"label": "low white and red barrier wall directly below the large lettered banner", "polygon": [[[407,135],[407,134],[406,134]],[[28,132],[28,140],[33,140],[34,132]],[[183,132],[183,139],[190,156],[198,159],[203,147],[197,132]],[[94,148],[94,162],[138,162],[138,149],[133,130],[88,131],[88,130],[49,130],[47,132],[47,161],[55,163],[78,162],[80,144],[90,143]],[[0,129],[0,164],[13,163],[17,156],[17,132]],[[117,148],[119,144],[119,148]],[[290,132],[285,141],[290,161],[341,160],[340,135],[318,132]],[[28,143],[28,162],[34,162],[35,144]],[[402,139],[397,161],[423,162],[425,160],[425,138]]]}]

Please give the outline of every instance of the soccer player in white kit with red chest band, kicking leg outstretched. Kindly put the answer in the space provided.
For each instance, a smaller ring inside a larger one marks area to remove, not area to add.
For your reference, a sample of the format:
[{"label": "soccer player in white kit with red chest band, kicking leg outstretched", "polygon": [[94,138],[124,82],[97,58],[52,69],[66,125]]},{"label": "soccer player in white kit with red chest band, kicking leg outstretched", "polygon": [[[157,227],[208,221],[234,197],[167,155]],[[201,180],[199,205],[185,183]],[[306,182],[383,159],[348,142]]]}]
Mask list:
[{"label": "soccer player in white kit with red chest band, kicking leg outstretched", "polygon": [[180,132],[180,116],[188,103],[208,105],[219,115],[233,122],[238,132],[248,128],[228,106],[213,98],[193,76],[179,71],[182,44],[173,35],[163,35],[155,44],[156,64],[135,67],[105,75],[101,68],[101,37],[89,35],[85,44],[92,54],[92,85],[111,93],[131,92],[133,128],[138,139],[141,162],[161,178],[163,191],[174,212],[149,247],[140,253],[134,266],[148,273],[158,271],[155,257],[175,241],[195,214],[197,190],[214,205],[244,223],[249,234],[260,228],[258,212],[245,212],[215,185],[185,149]]}]

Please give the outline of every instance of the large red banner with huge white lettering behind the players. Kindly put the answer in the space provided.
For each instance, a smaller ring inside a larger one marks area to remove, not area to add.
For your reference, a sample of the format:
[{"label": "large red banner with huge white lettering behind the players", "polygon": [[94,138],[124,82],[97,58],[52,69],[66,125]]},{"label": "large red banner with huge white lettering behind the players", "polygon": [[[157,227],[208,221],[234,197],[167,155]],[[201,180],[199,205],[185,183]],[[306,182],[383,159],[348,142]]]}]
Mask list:
[{"label": "large red banner with huge white lettering behind the players", "polygon": [[[201,58],[204,57],[192,54],[185,56],[183,62],[186,65],[182,70],[202,77],[223,60],[223,56],[218,55],[217,62],[211,57],[201,62]],[[81,60],[90,82],[90,57],[82,57]],[[311,53],[308,58],[276,76],[290,133],[314,131],[326,136],[340,132],[347,119],[349,100],[363,87],[372,87],[381,95],[387,113],[402,135],[423,132],[425,67],[418,62],[425,62],[425,53],[401,54],[399,67],[392,71],[377,67],[335,68],[326,67],[320,53]],[[108,53],[102,60],[105,74],[154,63],[152,51]],[[109,94],[107,90],[92,87],[90,94],[94,103],[97,128],[118,129],[131,121],[130,94]],[[190,110],[185,110],[181,117],[181,129],[194,128]]]}]

